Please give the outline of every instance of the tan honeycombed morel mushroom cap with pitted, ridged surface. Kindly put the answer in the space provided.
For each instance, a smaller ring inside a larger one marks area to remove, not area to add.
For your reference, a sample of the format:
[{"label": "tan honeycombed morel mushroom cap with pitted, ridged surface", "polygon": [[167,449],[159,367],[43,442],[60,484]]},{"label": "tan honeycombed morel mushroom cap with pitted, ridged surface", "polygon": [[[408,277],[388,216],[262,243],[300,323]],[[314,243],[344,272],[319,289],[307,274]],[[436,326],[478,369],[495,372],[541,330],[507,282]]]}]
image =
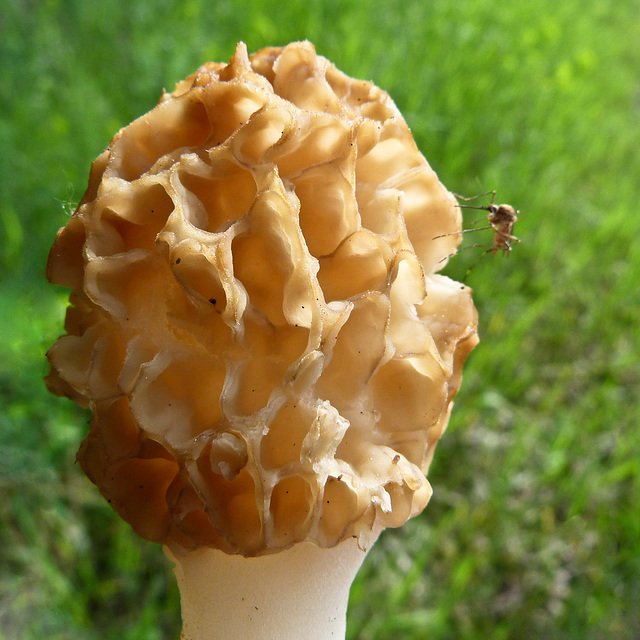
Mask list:
[{"label": "tan honeycombed morel mushroom cap with pitted, ridged surface", "polygon": [[83,470],[176,550],[402,525],[477,343],[436,273],[460,225],[390,97],[310,43],[203,65],[96,159],[49,256]]}]

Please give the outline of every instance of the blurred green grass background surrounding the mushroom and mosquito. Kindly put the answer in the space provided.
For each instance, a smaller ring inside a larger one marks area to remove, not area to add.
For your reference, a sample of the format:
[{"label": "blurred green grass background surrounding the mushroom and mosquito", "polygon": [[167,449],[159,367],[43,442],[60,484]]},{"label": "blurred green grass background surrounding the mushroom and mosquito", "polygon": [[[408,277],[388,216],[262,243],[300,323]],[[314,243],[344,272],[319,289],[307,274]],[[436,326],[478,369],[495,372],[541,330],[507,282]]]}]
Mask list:
[{"label": "blurred green grass background surrounding the mushroom and mosquito", "polygon": [[521,210],[522,243],[467,279],[482,342],[434,497],[371,552],[350,640],[637,640],[640,5],[264,4],[2,2],[0,637],[178,638],[161,549],[74,465],[87,415],[41,382],[67,295],[44,280],[46,254],[91,161],[163,87],[237,40],[308,38],[391,94],[449,189],[496,189]]}]

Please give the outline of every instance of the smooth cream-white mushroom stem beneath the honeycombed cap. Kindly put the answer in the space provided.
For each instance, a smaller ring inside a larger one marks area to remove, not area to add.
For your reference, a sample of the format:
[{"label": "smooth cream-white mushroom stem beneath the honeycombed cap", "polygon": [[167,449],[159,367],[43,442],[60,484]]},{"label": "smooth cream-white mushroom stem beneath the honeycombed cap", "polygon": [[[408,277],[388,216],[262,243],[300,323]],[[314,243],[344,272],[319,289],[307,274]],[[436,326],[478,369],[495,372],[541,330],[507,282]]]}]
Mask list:
[{"label": "smooth cream-white mushroom stem beneath the honeycombed cap", "polygon": [[345,637],[349,589],[367,551],[350,538],[329,549],[303,541],[254,558],[218,549],[165,553],[175,563],[183,640],[337,640]]}]

